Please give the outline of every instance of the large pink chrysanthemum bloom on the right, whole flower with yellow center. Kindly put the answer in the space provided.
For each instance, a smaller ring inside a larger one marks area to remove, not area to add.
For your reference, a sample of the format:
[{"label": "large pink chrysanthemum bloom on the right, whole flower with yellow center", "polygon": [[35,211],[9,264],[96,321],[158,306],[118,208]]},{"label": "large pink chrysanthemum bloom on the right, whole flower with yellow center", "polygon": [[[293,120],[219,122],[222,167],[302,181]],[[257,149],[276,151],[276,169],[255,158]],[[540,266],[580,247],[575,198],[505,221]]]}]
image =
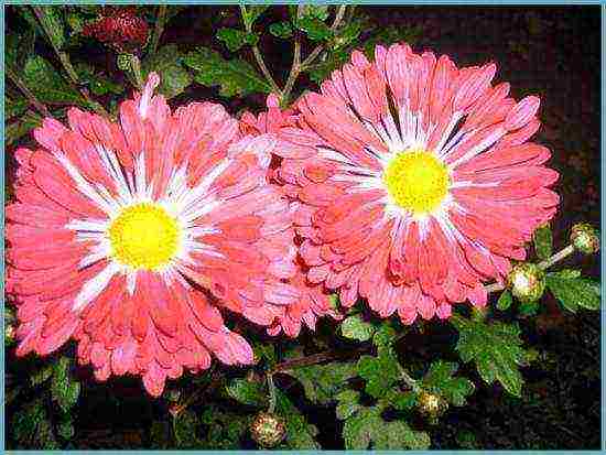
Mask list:
[{"label": "large pink chrysanthemum bloom on the right, whole flower with yellow center", "polygon": [[537,97],[516,102],[496,66],[457,68],[407,44],[377,46],[297,105],[284,127],[279,177],[301,202],[307,279],[358,296],[381,316],[445,318],[451,304],[485,305],[483,285],[559,203],[558,173],[539,128]]}]

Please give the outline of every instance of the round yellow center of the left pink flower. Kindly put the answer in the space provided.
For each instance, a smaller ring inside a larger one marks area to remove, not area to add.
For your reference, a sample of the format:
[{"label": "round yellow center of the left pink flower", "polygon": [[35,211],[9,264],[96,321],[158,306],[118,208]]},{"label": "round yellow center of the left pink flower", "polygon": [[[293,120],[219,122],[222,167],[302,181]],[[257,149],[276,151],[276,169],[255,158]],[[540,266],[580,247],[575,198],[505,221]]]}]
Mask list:
[{"label": "round yellow center of the left pink flower", "polygon": [[127,207],[108,230],[111,256],[133,269],[156,270],[176,253],[181,228],[164,208],[150,203]]}]

